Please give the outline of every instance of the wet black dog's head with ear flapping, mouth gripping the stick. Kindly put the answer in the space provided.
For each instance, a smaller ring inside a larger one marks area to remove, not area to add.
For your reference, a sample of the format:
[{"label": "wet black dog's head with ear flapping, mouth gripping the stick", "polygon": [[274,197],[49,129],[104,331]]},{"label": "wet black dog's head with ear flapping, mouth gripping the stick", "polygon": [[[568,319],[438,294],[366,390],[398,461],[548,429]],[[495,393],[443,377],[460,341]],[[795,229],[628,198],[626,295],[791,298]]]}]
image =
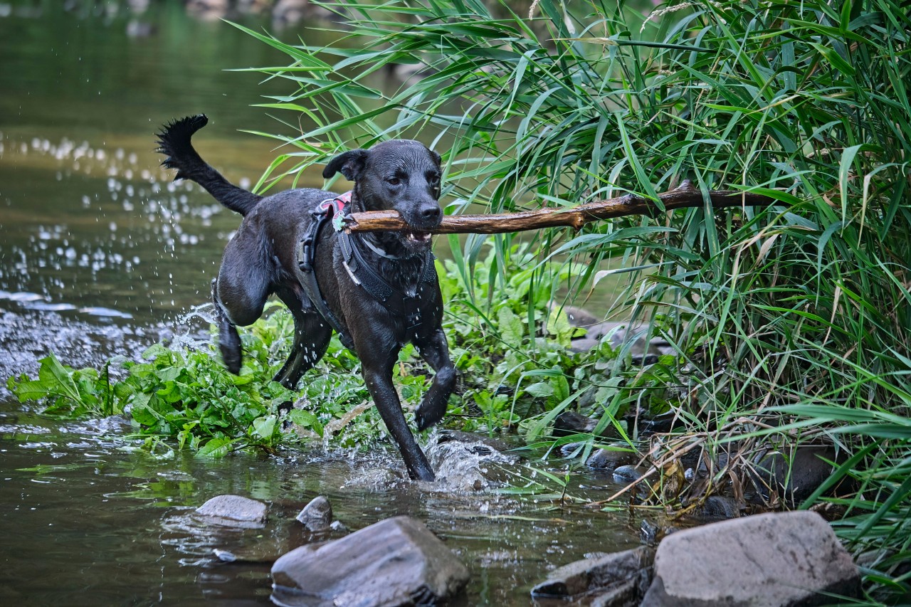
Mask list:
[{"label": "wet black dog's head with ear flapping, mouth gripping the stick", "polygon": [[363,211],[398,211],[410,230],[399,232],[412,251],[430,246],[430,231],[443,221],[440,155],[423,143],[393,139],[371,149],[352,149],[329,161],[322,177],[341,172],[354,181],[355,204]]}]

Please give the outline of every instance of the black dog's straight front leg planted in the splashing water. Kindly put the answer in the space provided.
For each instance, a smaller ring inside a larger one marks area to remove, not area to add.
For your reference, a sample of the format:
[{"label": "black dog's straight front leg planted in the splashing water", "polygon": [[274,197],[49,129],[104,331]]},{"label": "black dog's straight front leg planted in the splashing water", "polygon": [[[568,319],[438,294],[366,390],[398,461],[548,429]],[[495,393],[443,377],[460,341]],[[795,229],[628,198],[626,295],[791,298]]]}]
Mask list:
[{"label": "black dog's straight front leg planted in the splashing water", "polygon": [[418,480],[433,480],[434,469],[430,468],[424,451],[417,446],[414,435],[408,428],[402,412],[402,403],[393,386],[393,365],[395,356],[379,363],[375,360],[363,360],[363,379],[374,397],[376,408],[380,410],[386,427],[389,429],[408,468],[408,476]]}]

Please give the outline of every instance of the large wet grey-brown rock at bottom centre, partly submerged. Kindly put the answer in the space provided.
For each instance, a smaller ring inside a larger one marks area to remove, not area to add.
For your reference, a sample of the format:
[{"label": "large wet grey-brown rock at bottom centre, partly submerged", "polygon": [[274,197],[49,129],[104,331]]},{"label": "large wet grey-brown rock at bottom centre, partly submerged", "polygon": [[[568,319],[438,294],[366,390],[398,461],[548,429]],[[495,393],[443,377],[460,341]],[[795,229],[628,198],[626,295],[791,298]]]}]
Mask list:
[{"label": "large wet grey-brown rock at bottom centre, partly submerged", "polygon": [[435,604],[468,580],[452,550],[409,517],[292,550],[271,573],[272,601],[291,607]]}]

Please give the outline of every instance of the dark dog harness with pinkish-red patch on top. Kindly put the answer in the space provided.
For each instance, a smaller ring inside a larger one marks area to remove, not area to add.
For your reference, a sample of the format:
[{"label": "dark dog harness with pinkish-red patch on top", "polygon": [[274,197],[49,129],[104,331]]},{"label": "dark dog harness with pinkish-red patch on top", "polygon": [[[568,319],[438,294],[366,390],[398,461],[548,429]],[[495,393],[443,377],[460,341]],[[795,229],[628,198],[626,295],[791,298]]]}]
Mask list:
[{"label": "dark dog harness with pinkish-red patch on top", "polygon": [[404,317],[405,328],[408,332],[412,332],[421,326],[421,298],[419,295],[422,285],[424,283],[434,283],[436,280],[434,255],[428,251],[421,261],[421,270],[418,273],[420,279],[415,285],[414,292],[403,293],[392,284],[386,282],[370,263],[363,258],[363,252],[361,252],[359,244],[363,243],[373,252],[387,259],[398,259],[398,257],[378,249],[371,242],[356,238],[353,234],[344,231],[344,218],[348,214],[345,206],[351,202],[351,196],[352,192],[349,191],[341,196],[328,198],[313,208],[313,211],[311,211],[313,221],[307,226],[307,230],[303,232],[297,254],[298,267],[305,278],[302,281],[304,291],[306,291],[307,296],[313,305],[316,306],[322,318],[339,334],[342,344],[349,350],[354,349],[353,339],[347,331],[343,330],[342,324],[322,298],[320,285],[316,282],[316,273],[313,272],[316,243],[318,242],[320,230],[326,221],[332,220],[333,230],[338,236],[339,246],[342,249],[342,263],[353,283],[370,293],[390,313]]}]

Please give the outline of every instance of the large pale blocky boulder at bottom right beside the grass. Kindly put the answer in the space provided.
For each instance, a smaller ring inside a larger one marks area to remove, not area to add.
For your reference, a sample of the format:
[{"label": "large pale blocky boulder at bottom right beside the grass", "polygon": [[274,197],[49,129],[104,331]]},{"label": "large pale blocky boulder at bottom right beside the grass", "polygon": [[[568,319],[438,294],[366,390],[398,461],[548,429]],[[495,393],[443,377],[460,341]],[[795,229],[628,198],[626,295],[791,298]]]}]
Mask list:
[{"label": "large pale blocky boulder at bottom right beside the grass", "polygon": [[823,605],[857,597],[860,577],[814,512],[760,514],[669,535],[643,607]]}]

